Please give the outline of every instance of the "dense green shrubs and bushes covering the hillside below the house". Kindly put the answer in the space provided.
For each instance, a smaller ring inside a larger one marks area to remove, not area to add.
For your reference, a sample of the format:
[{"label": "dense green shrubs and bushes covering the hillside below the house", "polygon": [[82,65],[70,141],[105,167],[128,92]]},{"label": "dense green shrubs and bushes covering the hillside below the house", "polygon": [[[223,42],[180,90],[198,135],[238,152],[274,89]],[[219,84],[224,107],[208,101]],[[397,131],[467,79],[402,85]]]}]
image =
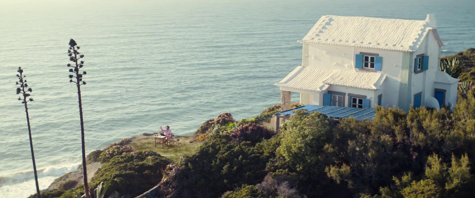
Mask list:
[{"label": "dense green shrubs and bushes covering the hillside below the house", "polygon": [[[466,61],[460,76],[470,76],[474,52],[455,55]],[[278,105],[239,121],[222,113],[199,127],[194,139],[203,144],[176,164],[123,142],[91,153],[103,163],[91,185],[111,181],[111,192],[136,196],[159,184],[164,198],[473,197],[475,92],[468,88],[451,110],[378,107],[365,122],[295,111],[277,134],[260,123]]]}]

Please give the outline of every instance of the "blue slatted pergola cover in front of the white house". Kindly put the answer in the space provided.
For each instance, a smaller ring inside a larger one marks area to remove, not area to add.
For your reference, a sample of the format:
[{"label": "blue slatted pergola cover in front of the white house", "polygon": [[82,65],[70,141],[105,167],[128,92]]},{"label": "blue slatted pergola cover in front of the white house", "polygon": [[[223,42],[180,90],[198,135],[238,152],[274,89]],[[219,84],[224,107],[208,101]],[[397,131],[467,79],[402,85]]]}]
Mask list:
[{"label": "blue slatted pergola cover in front of the white house", "polygon": [[307,113],[320,112],[328,117],[336,118],[336,119],[356,118],[359,120],[372,120],[374,118],[374,114],[376,113],[375,108],[354,108],[354,107],[320,106],[320,105],[307,104],[301,107],[289,109],[289,110],[282,111],[276,114],[295,115],[295,113],[292,113],[292,111],[298,110],[298,109],[304,109],[307,111]]}]

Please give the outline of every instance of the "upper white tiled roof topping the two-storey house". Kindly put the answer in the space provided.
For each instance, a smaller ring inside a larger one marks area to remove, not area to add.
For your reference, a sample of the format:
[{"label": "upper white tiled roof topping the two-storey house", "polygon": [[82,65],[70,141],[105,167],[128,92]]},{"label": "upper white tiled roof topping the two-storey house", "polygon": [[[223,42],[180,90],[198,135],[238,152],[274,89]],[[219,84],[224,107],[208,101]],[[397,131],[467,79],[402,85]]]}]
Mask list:
[{"label": "upper white tiled roof topping the two-storey house", "polygon": [[324,15],[299,42],[415,52],[430,30],[439,46],[443,46],[437,29],[430,26],[428,19]]}]

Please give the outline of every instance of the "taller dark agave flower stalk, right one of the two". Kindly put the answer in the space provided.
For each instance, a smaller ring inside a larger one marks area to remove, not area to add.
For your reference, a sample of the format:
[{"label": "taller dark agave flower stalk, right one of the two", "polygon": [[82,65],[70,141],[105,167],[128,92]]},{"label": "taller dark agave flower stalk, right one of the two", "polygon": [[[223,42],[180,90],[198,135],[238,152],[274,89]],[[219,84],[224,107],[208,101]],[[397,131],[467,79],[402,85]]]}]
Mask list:
[{"label": "taller dark agave flower stalk, right one of the two", "polygon": [[79,71],[83,67],[84,61],[78,62],[79,59],[83,58],[84,55],[79,53],[77,50],[79,46],[77,46],[76,41],[74,39],[69,40],[69,49],[67,53],[69,56],[69,60],[74,62],[74,65],[67,64],[67,67],[72,67],[69,69],[69,72],[73,73],[69,75],[69,82],[75,83],[77,87],[77,99],[79,101],[79,119],[81,123],[81,148],[83,154],[83,178],[84,178],[84,191],[85,197],[91,198],[89,195],[89,186],[87,185],[87,170],[86,170],[86,154],[85,154],[85,141],[84,141],[84,119],[83,119],[83,104],[81,101],[81,85],[85,85],[86,82],[83,81],[83,76],[86,75],[86,72],[83,71],[82,73]]}]

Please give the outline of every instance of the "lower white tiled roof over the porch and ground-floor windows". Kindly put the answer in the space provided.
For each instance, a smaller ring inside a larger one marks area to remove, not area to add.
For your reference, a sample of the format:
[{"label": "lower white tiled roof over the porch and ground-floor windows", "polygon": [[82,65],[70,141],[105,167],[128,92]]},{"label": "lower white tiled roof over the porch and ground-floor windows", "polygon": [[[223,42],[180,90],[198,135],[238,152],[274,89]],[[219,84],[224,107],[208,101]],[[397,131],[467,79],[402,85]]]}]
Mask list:
[{"label": "lower white tiled roof over the porch and ground-floor windows", "polygon": [[380,72],[354,72],[297,66],[275,85],[313,92],[324,91],[330,85],[377,90],[381,88],[385,77],[386,75]]}]

